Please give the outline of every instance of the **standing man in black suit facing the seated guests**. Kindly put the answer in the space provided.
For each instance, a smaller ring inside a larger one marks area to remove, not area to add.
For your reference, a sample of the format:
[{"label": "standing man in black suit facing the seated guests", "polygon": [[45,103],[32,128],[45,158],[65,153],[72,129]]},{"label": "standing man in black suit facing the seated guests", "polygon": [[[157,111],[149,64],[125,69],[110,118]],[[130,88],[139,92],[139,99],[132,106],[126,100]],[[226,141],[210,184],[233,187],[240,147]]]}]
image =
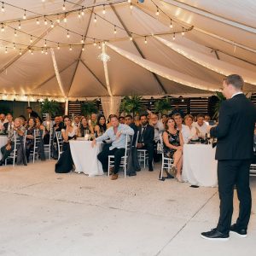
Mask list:
[{"label": "standing man in black suit facing the seated guests", "polygon": [[[256,107],[242,93],[243,84],[241,76],[236,74],[224,79],[223,94],[227,100],[219,109],[218,126],[210,130],[211,136],[218,138],[215,158],[218,160],[220,216],[216,229],[201,233],[201,237],[209,240],[228,240],[230,231],[247,236],[252,207],[249,169]],[[240,207],[236,224],[231,225],[235,185]]]}]

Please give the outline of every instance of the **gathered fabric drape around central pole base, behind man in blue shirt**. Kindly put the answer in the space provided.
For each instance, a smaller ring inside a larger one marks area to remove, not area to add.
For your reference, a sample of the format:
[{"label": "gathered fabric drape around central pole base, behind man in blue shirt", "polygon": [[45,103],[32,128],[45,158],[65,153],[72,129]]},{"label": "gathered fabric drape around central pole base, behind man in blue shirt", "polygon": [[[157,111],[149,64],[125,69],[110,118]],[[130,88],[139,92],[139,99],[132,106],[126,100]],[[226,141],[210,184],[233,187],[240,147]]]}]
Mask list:
[{"label": "gathered fabric drape around central pole base, behind man in blue shirt", "polygon": [[103,96],[101,97],[103,113],[108,119],[109,114],[118,114],[121,104],[121,96]]}]

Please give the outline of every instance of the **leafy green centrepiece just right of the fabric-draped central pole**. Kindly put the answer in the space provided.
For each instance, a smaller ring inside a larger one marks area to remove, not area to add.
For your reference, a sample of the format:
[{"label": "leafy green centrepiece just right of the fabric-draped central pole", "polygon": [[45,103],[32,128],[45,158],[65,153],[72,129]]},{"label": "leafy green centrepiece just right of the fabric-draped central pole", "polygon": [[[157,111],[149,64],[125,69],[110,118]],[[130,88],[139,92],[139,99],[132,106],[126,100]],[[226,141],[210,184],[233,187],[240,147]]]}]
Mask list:
[{"label": "leafy green centrepiece just right of the fabric-draped central pole", "polygon": [[120,105],[120,112],[132,113],[133,116],[140,113],[144,110],[142,99],[142,96],[125,96]]}]

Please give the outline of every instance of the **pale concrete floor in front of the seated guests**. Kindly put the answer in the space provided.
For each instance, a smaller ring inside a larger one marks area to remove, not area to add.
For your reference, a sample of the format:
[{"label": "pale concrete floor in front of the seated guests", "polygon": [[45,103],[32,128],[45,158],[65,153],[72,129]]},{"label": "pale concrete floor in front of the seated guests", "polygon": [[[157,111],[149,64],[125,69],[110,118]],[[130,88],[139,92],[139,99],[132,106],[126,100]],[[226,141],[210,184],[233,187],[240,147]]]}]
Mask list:
[{"label": "pale concrete floor in front of the seated guests", "polygon": [[[256,178],[248,237],[206,241],[200,233],[217,223],[217,188],[162,182],[159,171],[110,181],[54,167],[0,167],[0,255],[255,255]],[[235,198],[235,217],[237,208]]]}]

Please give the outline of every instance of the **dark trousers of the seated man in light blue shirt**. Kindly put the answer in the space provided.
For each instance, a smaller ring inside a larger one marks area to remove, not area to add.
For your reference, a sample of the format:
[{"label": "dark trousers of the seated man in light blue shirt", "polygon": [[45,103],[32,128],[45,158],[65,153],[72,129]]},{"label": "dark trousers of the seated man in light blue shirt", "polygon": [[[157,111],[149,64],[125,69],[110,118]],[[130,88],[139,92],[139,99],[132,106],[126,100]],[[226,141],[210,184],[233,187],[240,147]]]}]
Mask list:
[{"label": "dark trousers of the seated man in light blue shirt", "polygon": [[104,172],[108,171],[108,155],[114,155],[114,170],[113,173],[119,172],[119,165],[122,156],[125,155],[125,148],[113,148],[109,150],[111,144],[104,145],[102,152],[97,155],[98,160],[102,163],[102,168]]}]

